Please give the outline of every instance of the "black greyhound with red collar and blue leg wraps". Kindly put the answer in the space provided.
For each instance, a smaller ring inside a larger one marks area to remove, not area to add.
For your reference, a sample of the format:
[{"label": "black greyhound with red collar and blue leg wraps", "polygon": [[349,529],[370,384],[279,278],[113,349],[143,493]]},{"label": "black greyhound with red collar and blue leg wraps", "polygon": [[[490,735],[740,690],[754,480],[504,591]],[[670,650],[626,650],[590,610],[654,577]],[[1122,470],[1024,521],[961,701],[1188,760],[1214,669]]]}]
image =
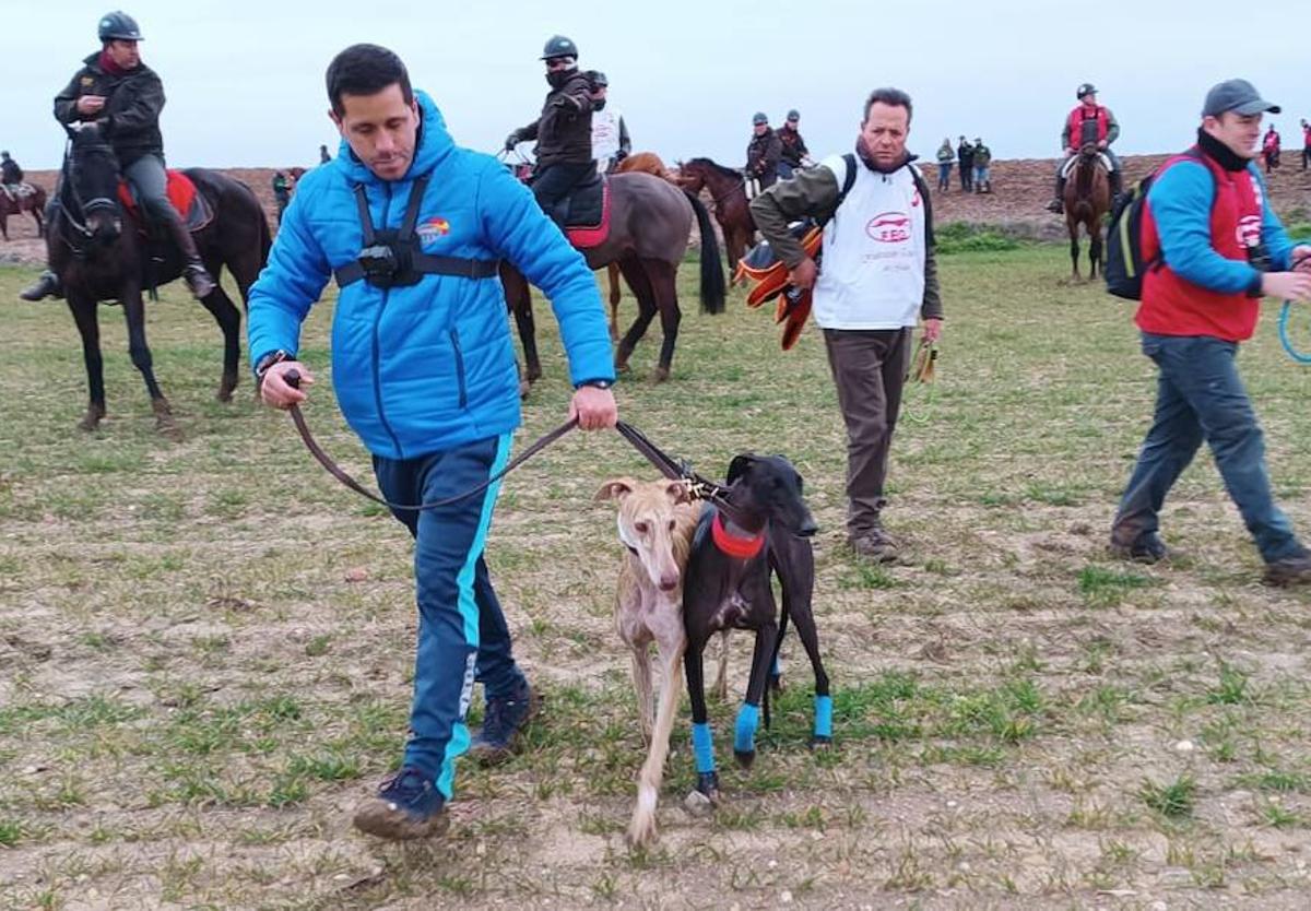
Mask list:
[{"label": "black greyhound with red collar and blue leg wraps", "polygon": [[[714,747],[705,714],[705,680],[701,653],[711,636],[721,629],[755,630],[751,682],[738,712],[733,755],[743,768],[755,759],[755,731],[760,700],[764,724],[770,725],[766,686],[777,676],[779,645],[788,617],[810,658],[815,675],[815,724],[812,746],[832,741],[832,701],[829,675],[819,661],[810,599],[815,561],[810,536],[814,518],[801,498],[801,475],[783,456],[739,455],[729,464],[726,507],[707,506],[692,539],[683,585],[683,624],[687,651],[683,669],[692,700],[692,751],[696,759],[696,789],[718,801]],[[783,615],[770,577],[783,586]]]}]

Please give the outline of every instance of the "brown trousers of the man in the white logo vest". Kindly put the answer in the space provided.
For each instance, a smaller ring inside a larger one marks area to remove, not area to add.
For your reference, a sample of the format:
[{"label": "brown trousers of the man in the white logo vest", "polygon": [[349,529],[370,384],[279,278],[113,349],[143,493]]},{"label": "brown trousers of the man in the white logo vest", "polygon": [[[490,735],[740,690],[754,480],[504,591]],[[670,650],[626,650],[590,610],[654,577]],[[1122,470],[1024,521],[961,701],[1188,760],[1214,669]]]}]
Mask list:
[{"label": "brown trousers of the man in the white logo vest", "polygon": [[880,527],[888,450],[910,364],[910,329],[825,329],[829,368],[847,422],[847,533]]}]

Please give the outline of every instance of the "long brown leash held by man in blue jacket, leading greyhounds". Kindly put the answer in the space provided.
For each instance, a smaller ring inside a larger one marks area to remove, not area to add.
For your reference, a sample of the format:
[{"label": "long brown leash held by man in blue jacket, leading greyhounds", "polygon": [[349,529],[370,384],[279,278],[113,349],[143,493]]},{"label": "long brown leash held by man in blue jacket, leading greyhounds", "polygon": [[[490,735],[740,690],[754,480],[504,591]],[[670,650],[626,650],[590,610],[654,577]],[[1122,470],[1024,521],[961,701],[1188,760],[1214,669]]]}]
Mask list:
[{"label": "long brown leash held by man in blue jacket, leading greyhounds", "polygon": [[[294,389],[300,388],[300,374],[295,370],[287,371],[286,376],[283,376],[283,380],[287,383],[287,385],[292,387]],[[565,436],[566,434],[569,434],[569,431],[576,430],[578,427],[578,418],[570,418],[569,421],[565,421],[555,430],[551,430],[549,433],[545,433],[541,436],[539,436],[527,450],[520,452],[505,468],[492,475],[488,480],[482,481],[481,484],[473,488],[469,488],[468,490],[458,493],[454,497],[444,497],[442,499],[437,499],[429,503],[402,505],[402,503],[393,503],[385,497],[375,494],[363,484],[353,478],[341,465],[338,465],[333,460],[333,457],[328,455],[321,446],[319,446],[319,442],[315,439],[313,434],[309,433],[309,425],[305,423],[305,416],[304,413],[302,413],[299,405],[292,404],[290,408],[287,408],[287,412],[291,414],[291,421],[292,423],[296,425],[296,431],[300,434],[300,439],[302,442],[304,442],[305,448],[309,450],[309,454],[319,461],[320,465],[323,465],[328,471],[329,475],[337,478],[343,486],[350,488],[361,497],[371,499],[375,503],[385,506],[391,510],[416,511],[416,513],[443,509],[446,506],[451,506],[452,503],[458,503],[463,499],[468,499],[475,494],[482,493],[493,484],[503,478],[506,475],[513,472],[515,468],[528,461],[535,455],[545,450],[548,446],[558,440],[561,436]],[[724,511],[730,519],[734,518],[735,511],[728,499],[729,488],[701,477],[700,475],[692,471],[688,463],[675,460],[673,456],[670,456],[658,446],[646,439],[646,435],[642,434],[642,431],[640,431],[631,423],[619,421],[615,425],[615,430],[617,430],[620,436],[628,440],[628,443],[632,444],[632,447],[637,450],[648,461],[650,461],[665,477],[673,481],[684,481],[687,484],[687,490],[690,497],[692,497],[694,499],[703,499],[705,502],[713,503],[716,507]]]}]

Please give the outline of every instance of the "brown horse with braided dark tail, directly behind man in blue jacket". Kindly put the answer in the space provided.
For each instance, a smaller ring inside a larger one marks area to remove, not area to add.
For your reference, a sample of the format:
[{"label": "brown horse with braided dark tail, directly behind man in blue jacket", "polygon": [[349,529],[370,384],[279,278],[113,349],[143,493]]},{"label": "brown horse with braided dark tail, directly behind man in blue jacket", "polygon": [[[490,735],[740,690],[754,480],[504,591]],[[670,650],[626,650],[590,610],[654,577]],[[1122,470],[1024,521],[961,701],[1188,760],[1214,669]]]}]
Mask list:
[{"label": "brown horse with braided dark tail, directly behind man in blue jacket", "polygon": [[[724,263],[711,215],[701,202],[679,187],[644,173],[610,177],[610,236],[597,246],[579,250],[591,269],[615,263],[637,296],[637,319],[619,342],[615,367],[625,370],[628,358],[652,320],[659,313],[663,343],[659,366],[652,375],[657,383],[669,379],[674,342],[682,312],[678,308],[678,266],[691,241],[692,220],[701,232],[701,309],[724,312]],[[505,299],[514,312],[523,342],[528,383],[541,376],[528,283],[518,270],[501,266]]]}]

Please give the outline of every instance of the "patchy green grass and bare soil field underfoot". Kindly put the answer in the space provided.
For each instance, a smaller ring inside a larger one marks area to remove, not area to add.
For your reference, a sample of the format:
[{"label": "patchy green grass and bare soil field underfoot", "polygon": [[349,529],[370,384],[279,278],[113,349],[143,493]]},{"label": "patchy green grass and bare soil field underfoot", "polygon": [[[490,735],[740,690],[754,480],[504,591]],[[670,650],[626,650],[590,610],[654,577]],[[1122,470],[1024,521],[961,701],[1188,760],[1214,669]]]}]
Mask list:
[{"label": "patchy green grass and bare soil field underfoot", "polygon": [[[184,442],[155,431],[111,307],[109,417],[79,431],[67,309],[17,301],[33,273],[0,269],[0,906],[1304,907],[1311,598],[1259,585],[1209,456],[1164,518],[1188,558],[1106,558],[1155,378],[1127,305],[1067,273],[1063,246],[943,257],[939,380],[931,402],[912,393],[922,421],[898,431],[885,514],[906,560],[881,568],[843,547],[822,339],[783,354],[741,292],[701,316],[683,270],[674,379],[646,381],[648,336],[621,414],[707,475],[743,450],[805,475],[836,743],[806,748],[809,669],[789,637],[773,730],[750,773],[733,767],[735,637],[730,704],[712,700],[728,801],[682,809],[684,709],[662,839],[635,853],[621,545],[593,494],[654,473],[616,434],[572,435],[503,488],[488,560],[548,699],[528,748],[461,767],[444,839],[382,844],[349,814],[405,734],[408,535],[257,406],[249,374],[214,401],[219,332],[181,286],[149,305],[148,333]],[[303,349],[324,375],[329,311]],[[523,442],[565,413],[545,311]],[[1311,371],[1273,316],[1242,370],[1277,494],[1311,533]],[[367,477],[326,381],[307,416]]]}]

